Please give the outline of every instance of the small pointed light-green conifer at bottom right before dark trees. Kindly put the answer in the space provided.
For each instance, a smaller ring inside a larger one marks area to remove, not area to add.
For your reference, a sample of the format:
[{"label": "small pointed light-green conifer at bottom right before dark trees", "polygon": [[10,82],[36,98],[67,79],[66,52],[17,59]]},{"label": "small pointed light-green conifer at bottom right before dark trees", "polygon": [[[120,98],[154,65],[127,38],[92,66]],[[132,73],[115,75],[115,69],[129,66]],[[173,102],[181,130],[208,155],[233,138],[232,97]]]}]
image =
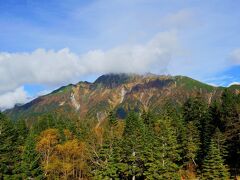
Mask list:
[{"label": "small pointed light-green conifer at bottom right before dark trees", "polygon": [[202,179],[226,180],[229,174],[217,144],[212,140],[209,151],[203,162]]}]

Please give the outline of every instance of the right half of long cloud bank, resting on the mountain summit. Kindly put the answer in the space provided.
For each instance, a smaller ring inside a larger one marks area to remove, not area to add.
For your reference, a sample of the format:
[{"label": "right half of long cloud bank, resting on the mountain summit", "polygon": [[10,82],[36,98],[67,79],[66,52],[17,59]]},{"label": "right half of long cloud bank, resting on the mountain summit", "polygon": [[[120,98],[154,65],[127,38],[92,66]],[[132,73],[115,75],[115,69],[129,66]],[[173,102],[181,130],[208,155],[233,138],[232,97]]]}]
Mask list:
[{"label": "right half of long cloud bank, resting on the mountain summit", "polygon": [[85,73],[166,73],[172,56],[178,53],[175,32],[164,32],[144,45],[94,50],[80,57]]}]

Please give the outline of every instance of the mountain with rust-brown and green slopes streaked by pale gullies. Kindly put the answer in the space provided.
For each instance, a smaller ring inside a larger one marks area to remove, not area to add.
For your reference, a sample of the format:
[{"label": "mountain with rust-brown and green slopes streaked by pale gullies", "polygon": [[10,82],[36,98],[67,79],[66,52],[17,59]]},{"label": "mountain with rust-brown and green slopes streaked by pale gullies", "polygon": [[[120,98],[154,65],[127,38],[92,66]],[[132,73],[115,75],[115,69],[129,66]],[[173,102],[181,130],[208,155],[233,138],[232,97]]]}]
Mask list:
[{"label": "mountain with rust-brown and green slopes streaked by pale gullies", "polygon": [[[238,91],[239,86],[231,88]],[[196,95],[211,103],[223,90],[223,87],[213,87],[184,76],[107,74],[94,83],[79,82],[61,87],[5,113],[14,120],[33,121],[38,115],[49,112],[101,120],[110,109],[115,109],[123,118],[130,109],[161,111],[166,102],[177,106]]]}]

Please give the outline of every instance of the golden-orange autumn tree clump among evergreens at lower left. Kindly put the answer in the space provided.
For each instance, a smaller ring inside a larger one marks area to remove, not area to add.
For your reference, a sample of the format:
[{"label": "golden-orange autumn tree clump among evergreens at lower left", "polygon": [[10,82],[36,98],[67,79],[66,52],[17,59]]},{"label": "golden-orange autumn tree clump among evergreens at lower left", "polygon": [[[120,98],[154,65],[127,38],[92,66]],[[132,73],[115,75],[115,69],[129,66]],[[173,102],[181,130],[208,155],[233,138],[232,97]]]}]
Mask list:
[{"label": "golden-orange autumn tree clump among evergreens at lower left", "polygon": [[71,131],[63,131],[66,141],[60,143],[57,129],[47,129],[38,137],[36,150],[42,155],[42,167],[48,179],[82,179],[87,174],[84,142]]}]

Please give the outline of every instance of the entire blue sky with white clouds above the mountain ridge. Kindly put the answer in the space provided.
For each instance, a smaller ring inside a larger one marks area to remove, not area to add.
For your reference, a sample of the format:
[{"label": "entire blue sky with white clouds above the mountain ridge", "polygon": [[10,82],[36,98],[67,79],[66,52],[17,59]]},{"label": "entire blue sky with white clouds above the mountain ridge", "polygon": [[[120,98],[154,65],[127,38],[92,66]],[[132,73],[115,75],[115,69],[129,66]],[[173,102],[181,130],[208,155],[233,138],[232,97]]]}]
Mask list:
[{"label": "entire blue sky with white clouds above the mountain ridge", "polygon": [[0,108],[110,72],[240,82],[240,1],[0,0]]}]

